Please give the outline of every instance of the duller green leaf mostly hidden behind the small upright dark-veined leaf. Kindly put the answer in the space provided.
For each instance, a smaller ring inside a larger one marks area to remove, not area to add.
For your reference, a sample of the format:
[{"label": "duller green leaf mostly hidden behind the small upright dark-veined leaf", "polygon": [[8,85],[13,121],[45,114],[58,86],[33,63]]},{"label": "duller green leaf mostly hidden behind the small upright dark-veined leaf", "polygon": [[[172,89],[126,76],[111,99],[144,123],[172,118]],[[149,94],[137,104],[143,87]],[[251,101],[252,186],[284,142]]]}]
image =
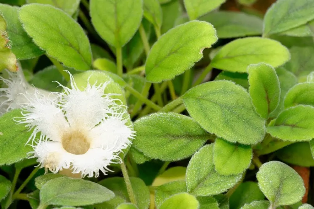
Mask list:
[{"label": "duller green leaf mostly hidden behind the small upright dark-veined leaf", "polygon": [[270,118],[276,118],[279,113],[284,110],[284,97],[288,90],[298,82],[298,79],[295,77],[295,75],[283,67],[277,68],[276,74],[280,83],[280,101],[276,110],[269,115]]}]

